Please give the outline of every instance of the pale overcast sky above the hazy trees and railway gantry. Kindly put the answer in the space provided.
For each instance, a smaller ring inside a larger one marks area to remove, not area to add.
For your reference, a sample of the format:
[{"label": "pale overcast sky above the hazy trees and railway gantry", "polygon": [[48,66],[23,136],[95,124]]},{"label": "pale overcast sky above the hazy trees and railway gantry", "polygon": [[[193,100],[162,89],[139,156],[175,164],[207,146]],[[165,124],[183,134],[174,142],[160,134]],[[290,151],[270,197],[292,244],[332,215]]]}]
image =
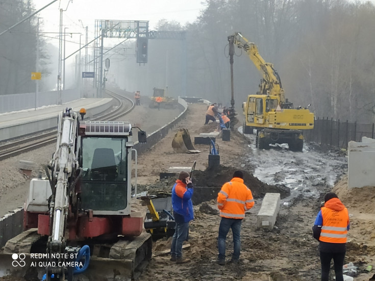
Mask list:
[{"label": "pale overcast sky above the hazy trees and railway gantry", "polygon": [[[36,10],[41,9],[52,0],[34,0]],[[202,0],[59,0],[48,6],[38,17],[42,18],[43,32],[59,32],[60,8],[63,12],[63,29],[66,32],[85,33],[82,28],[88,26],[89,40],[94,37],[95,19],[112,20],[148,20],[150,30],[155,30],[155,25],[160,19],[176,20],[184,25],[193,22],[204,9]],[[56,34],[45,34],[56,37]],[[79,42],[80,35],[72,35],[70,41]],[[57,39],[51,39],[58,45]],[[68,38],[66,38],[68,40]],[[81,39],[82,42],[84,38]],[[67,47],[68,48],[68,47]]]}]

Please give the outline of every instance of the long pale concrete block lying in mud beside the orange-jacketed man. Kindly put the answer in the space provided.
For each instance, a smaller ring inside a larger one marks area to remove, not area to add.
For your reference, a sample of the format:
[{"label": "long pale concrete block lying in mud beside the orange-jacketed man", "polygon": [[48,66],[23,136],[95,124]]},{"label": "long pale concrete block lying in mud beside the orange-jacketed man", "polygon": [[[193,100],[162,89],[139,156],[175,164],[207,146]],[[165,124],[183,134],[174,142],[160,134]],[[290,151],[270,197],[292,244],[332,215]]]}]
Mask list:
[{"label": "long pale concrete block lying in mud beside the orange-jacketed man", "polygon": [[280,211],[280,193],[266,193],[257,215],[257,227],[273,229]]}]

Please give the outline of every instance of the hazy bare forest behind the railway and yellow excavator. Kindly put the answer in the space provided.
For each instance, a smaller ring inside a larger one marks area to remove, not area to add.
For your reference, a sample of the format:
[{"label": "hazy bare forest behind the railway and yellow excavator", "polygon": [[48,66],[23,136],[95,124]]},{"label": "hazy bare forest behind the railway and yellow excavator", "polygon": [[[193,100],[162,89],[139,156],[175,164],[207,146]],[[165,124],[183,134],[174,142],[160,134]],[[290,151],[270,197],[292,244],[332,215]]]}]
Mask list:
[{"label": "hazy bare forest behind the railway and yellow excavator", "polygon": [[[135,42],[109,72],[121,88],[167,88],[171,96],[197,96],[230,105],[228,36],[241,32],[278,70],[285,96],[317,117],[375,121],[375,6],[345,0],[205,0],[196,21],[160,20],[158,31],[184,31],[185,40],[150,40],[148,62],[135,63]],[[0,2],[0,32],[33,10],[30,1]],[[127,19],[123,19],[127,20]],[[32,92],[37,20],[0,38],[0,94]],[[47,46],[39,66],[48,75]],[[130,49],[129,49],[130,48]],[[115,57],[113,57],[115,58]],[[57,60],[57,58],[52,58]],[[261,74],[246,54],[234,58],[235,107],[258,90]]]}]

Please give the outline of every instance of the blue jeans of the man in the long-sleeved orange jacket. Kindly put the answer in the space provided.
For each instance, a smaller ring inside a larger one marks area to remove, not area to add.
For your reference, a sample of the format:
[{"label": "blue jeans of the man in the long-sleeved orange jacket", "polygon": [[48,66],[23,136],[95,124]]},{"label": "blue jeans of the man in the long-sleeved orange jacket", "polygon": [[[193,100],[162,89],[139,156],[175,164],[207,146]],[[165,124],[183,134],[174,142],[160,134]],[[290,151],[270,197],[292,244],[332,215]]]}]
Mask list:
[{"label": "blue jeans of the man in the long-sleeved orange jacket", "polygon": [[225,260],[226,258],[226,240],[229,229],[232,228],[233,234],[233,255],[232,260],[238,260],[240,258],[241,251],[241,223],[242,219],[229,219],[221,217],[219,226],[219,237],[217,240],[217,248],[219,250],[219,260]]}]

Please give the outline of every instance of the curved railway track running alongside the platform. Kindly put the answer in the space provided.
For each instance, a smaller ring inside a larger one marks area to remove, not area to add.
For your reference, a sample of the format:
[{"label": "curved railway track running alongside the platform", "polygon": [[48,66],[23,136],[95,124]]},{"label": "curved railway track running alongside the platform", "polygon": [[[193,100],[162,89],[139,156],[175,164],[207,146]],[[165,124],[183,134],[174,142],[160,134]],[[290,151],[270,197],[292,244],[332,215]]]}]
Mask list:
[{"label": "curved railway track running alongside the platform", "polygon": [[[106,112],[99,113],[90,118],[90,120],[113,121],[133,110],[134,102],[130,98],[110,90],[106,90],[106,93],[116,100],[116,105],[109,112],[107,110]],[[56,139],[56,130],[47,130],[40,132],[39,135],[27,136],[21,140],[0,145],[0,161],[48,144],[56,143]]]}]

